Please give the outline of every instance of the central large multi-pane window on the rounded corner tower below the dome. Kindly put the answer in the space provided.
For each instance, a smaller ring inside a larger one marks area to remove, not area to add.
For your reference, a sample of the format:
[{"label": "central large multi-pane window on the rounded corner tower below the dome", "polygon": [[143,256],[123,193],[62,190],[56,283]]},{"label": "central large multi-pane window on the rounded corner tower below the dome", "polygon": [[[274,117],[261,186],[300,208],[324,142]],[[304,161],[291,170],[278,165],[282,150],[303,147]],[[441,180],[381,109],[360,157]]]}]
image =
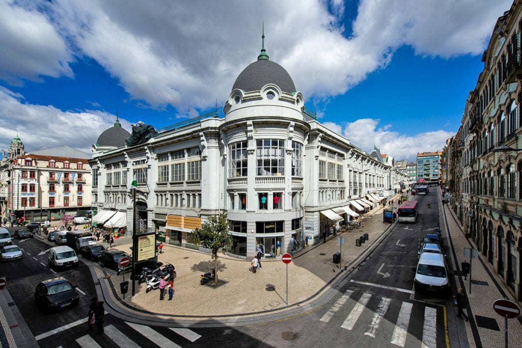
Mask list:
[{"label": "central large multi-pane window on the rounded corner tower below the dome", "polygon": [[284,175],[284,140],[256,140],[257,175]]}]

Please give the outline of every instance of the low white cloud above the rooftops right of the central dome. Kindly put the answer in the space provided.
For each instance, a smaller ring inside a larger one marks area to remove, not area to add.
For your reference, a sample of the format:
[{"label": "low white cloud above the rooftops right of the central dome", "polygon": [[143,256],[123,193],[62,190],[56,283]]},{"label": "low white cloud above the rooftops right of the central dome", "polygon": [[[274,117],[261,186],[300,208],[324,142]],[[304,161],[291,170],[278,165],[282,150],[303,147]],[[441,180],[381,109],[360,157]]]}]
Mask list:
[{"label": "low white cloud above the rooftops right of the central dome", "polygon": [[[406,158],[409,161],[416,158],[417,152],[441,151],[446,139],[453,136],[452,132],[445,130],[404,135],[390,130],[389,125],[379,128],[380,121],[374,118],[358,119],[347,123],[342,134],[350,139],[353,145],[363,150],[371,152],[375,144],[381,153],[392,155],[395,159]],[[332,126],[329,128],[332,129]]]}]

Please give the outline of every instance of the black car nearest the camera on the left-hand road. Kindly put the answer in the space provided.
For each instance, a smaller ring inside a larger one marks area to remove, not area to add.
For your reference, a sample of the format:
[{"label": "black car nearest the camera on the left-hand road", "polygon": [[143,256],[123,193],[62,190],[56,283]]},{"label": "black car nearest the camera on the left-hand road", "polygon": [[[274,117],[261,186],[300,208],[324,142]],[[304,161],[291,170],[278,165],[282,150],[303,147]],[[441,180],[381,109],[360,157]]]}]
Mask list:
[{"label": "black car nearest the camera on the left-hand road", "polygon": [[53,278],[44,280],[34,290],[36,304],[43,310],[58,310],[65,307],[74,307],[80,297],[73,285],[67,279]]}]

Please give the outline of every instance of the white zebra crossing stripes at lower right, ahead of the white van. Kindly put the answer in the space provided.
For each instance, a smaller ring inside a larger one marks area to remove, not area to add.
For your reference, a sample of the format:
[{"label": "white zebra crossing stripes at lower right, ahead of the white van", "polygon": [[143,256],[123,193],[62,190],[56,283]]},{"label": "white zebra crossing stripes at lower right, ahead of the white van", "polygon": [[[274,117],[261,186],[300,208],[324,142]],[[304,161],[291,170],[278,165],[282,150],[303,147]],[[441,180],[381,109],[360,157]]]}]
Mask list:
[{"label": "white zebra crossing stripes at lower right, ahead of the white van", "polygon": [[[331,305],[331,307],[326,311],[326,313],[319,319],[322,322],[330,323],[334,321],[334,318],[340,318],[342,320],[341,328],[349,331],[356,331],[354,330],[354,327],[358,325],[360,328],[361,321],[360,318],[364,317],[363,311],[364,309],[370,309],[369,308],[369,302],[374,297],[369,292],[363,292],[360,296],[356,296],[355,298],[352,298],[353,295],[352,290],[346,290],[346,292],[340,296],[337,301]],[[358,297],[358,298],[357,298]],[[349,299],[352,299],[353,301],[357,300],[353,304],[352,302],[348,302]],[[388,313],[388,309],[390,308],[390,305],[392,304],[392,298],[389,297],[381,297],[378,298],[379,302],[376,308],[371,309],[373,311],[373,316],[371,318],[371,321],[363,322],[363,325],[366,325],[366,330],[362,331],[364,332],[365,336],[375,338],[376,335],[379,332],[379,327],[381,327],[381,324],[383,322],[383,319],[386,318],[389,321],[395,320],[395,323],[393,324],[393,333],[391,337],[389,337],[390,344],[404,347],[406,344],[406,339],[408,337],[408,328],[410,326],[410,319],[412,317],[413,312],[413,303],[402,301],[400,303],[400,310],[398,315],[392,319],[392,313]],[[352,303],[351,305],[348,305],[347,303]],[[398,303],[396,302],[397,307]],[[351,308],[350,308],[351,307]],[[423,327],[422,327],[422,341],[421,341],[421,348],[432,348],[436,347],[437,345],[437,308],[425,306],[423,308],[424,313],[421,316],[424,319]],[[348,315],[347,315],[348,313]],[[388,316],[387,316],[388,313]],[[346,316],[346,317],[345,317]],[[366,319],[367,318],[366,316]],[[339,319],[338,319],[339,320]],[[359,323],[359,324],[358,324]],[[388,325],[390,325],[388,323]],[[382,330],[384,331],[384,330]],[[388,333],[383,333],[388,334]],[[420,336],[419,336],[420,338]]]}]

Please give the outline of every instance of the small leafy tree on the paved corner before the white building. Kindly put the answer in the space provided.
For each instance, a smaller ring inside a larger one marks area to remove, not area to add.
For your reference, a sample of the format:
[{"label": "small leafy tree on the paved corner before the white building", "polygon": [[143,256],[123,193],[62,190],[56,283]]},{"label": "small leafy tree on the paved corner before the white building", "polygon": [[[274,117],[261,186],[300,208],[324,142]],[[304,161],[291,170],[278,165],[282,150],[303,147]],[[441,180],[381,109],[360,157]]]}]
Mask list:
[{"label": "small leafy tree on the paved corner before the white building", "polygon": [[216,270],[214,283],[216,284],[218,282],[218,251],[219,249],[227,249],[232,245],[227,213],[209,217],[208,221],[201,224],[200,229],[195,229],[192,232],[192,239],[194,243],[212,250]]}]

